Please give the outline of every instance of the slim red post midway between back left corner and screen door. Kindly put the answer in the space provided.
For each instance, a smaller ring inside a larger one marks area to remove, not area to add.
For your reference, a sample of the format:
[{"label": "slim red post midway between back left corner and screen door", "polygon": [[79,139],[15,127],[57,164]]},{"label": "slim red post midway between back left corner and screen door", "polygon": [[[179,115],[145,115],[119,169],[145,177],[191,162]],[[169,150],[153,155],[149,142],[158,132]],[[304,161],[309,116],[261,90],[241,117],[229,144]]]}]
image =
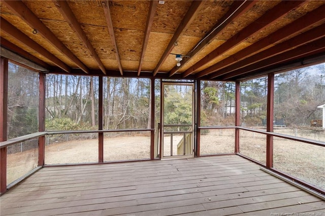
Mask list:
[{"label": "slim red post midway between back left corner and screen door", "polygon": [[[103,77],[99,77],[98,88],[98,129],[103,130]],[[104,133],[98,133],[98,162],[104,162]]]}]

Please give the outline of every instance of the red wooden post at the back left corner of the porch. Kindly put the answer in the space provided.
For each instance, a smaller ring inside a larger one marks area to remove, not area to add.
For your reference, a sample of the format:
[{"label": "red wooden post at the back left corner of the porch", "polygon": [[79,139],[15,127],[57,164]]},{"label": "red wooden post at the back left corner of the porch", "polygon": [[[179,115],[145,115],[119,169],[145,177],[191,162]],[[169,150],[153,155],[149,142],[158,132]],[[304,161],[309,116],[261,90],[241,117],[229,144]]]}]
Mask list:
[{"label": "red wooden post at the back left corner of the porch", "polygon": [[[39,131],[45,131],[45,86],[46,74],[40,73],[40,92],[39,92]],[[45,136],[39,137],[39,166],[45,164]]]}]

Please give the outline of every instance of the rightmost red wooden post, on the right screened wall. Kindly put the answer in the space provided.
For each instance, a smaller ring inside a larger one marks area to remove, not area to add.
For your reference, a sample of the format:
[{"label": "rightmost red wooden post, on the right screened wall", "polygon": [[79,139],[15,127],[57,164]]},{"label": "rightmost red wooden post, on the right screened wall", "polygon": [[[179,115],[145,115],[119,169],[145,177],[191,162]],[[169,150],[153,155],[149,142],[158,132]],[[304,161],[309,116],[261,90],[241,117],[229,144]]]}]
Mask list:
[{"label": "rightmost red wooden post, on the right screened wall", "polygon": [[[268,101],[266,131],[273,132],[274,74],[268,75]],[[266,136],[266,166],[273,167],[273,136]]]}]

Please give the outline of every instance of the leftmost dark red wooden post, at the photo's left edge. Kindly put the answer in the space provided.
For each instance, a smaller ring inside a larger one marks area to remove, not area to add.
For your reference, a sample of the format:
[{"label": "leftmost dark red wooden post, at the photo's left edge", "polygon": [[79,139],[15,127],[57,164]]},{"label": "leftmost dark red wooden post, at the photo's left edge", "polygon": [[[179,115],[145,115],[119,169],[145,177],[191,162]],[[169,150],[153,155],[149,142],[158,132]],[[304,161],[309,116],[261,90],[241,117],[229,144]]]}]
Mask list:
[{"label": "leftmost dark red wooden post, at the photo's left edge", "polygon": [[[0,65],[0,141],[7,140],[8,58],[1,57]],[[7,190],[7,147],[0,150],[0,193]]]}]

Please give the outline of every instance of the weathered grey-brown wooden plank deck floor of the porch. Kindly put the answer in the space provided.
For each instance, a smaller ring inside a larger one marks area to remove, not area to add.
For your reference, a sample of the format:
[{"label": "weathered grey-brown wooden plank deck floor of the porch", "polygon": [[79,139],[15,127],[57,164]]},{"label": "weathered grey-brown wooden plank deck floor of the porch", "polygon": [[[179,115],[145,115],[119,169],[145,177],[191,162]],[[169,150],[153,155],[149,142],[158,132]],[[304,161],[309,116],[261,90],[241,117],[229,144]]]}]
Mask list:
[{"label": "weathered grey-brown wooden plank deck floor of the porch", "polygon": [[43,168],[1,215],[325,215],[325,202],[239,156]]}]

